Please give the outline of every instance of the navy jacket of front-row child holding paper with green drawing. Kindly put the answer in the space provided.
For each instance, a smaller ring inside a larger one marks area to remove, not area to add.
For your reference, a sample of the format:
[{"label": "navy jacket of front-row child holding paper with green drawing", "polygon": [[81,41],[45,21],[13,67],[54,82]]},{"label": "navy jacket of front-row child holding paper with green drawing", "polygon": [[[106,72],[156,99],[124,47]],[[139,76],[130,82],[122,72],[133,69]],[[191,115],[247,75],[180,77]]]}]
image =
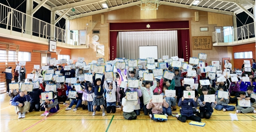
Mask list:
[{"label": "navy jacket of front-row child holding paper with green drawing", "polygon": [[182,116],[190,117],[193,115],[193,107],[197,107],[197,101],[194,101],[194,99],[184,99],[182,101],[182,98],[180,98],[178,107],[181,107],[180,114]]}]

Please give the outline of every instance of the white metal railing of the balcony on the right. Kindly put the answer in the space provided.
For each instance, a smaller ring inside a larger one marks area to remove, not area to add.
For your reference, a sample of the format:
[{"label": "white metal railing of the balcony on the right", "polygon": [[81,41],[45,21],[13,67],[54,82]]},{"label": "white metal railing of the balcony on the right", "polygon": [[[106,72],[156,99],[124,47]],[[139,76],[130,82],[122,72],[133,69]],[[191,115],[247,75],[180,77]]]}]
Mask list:
[{"label": "white metal railing of the balcony on the right", "polygon": [[255,37],[254,23],[243,25],[229,31],[215,31],[212,33],[213,43],[235,42]]}]

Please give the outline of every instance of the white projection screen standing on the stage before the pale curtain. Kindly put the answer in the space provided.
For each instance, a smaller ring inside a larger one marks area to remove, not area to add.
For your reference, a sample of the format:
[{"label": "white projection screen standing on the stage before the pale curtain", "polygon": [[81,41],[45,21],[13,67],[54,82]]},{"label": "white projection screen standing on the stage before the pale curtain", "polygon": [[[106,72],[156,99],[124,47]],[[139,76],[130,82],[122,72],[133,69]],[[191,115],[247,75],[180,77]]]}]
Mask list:
[{"label": "white projection screen standing on the stage before the pale curtain", "polygon": [[157,46],[139,46],[139,58],[147,59],[147,58],[155,58],[158,59],[157,54]]}]

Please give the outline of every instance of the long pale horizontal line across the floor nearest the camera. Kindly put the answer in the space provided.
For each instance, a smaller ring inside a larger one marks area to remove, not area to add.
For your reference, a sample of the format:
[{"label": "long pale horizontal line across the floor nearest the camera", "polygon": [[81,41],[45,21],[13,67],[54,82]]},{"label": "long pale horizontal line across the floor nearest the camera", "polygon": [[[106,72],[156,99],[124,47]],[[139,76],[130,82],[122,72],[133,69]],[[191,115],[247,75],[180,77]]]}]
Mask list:
[{"label": "long pale horizontal line across the floor nearest the camera", "polygon": [[[113,116],[114,117],[114,116]],[[112,118],[113,118],[112,117]],[[59,120],[59,121],[65,121],[65,120],[70,120],[70,121],[96,121],[96,120],[127,120],[127,119],[1,119],[1,120]],[[136,119],[136,120],[151,120],[151,119]],[[167,119],[169,121],[178,121],[178,119]],[[190,119],[187,119],[190,120]],[[202,121],[256,121],[254,120],[226,120],[226,119],[202,119]]]}]

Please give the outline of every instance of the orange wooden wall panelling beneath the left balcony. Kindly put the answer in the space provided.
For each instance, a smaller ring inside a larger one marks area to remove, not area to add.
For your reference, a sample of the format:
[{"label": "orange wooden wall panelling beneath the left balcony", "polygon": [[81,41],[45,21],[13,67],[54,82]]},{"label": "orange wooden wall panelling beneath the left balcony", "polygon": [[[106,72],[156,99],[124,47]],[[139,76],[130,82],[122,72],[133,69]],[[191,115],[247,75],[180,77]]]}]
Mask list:
[{"label": "orange wooden wall panelling beneath the left balcony", "polygon": [[[5,38],[0,38],[0,42],[8,42],[8,43],[13,43],[15,45],[19,45],[19,51],[24,51],[24,52],[31,52],[31,61],[26,62],[26,70],[27,73],[30,73],[33,71],[34,65],[40,65],[41,63],[41,53],[40,52],[33,52],[33,50],[41,50],[41,51],[46,51],[48,50],[48,45],[41,45],[41,44],[36,44],[36,43],[30,43],[30,42],[23,42],[23,41],[18,41],[18,40],[9,40]],[[58,47],[58,49],[61,49],[60,54],[66,54],[70,55],[70,49],[65,49]],[[56,55],[55,52],[51,53],[52,58],[58,59],[58,55]]]}]

